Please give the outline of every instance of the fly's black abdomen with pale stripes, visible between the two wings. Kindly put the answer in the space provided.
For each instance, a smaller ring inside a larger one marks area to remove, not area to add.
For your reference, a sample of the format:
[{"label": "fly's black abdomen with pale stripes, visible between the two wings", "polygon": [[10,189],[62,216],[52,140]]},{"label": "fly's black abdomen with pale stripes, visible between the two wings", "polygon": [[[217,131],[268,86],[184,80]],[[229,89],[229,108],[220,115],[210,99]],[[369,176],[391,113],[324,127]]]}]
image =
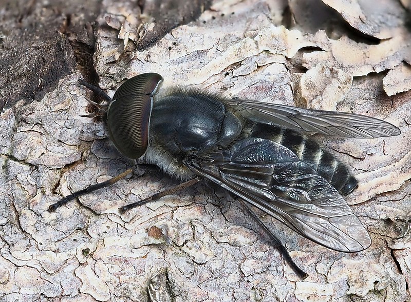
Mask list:
[{"label": "fly's black abdomen with pale stripes, visible between the two wings", "polygon": [[289,129],[256,124],[251,136],[271,139],[290,149],[304,163],[324,177],[340,194],[347,195],[357,187],[357,180],[350,174],[346,165],[305,135]]}]

